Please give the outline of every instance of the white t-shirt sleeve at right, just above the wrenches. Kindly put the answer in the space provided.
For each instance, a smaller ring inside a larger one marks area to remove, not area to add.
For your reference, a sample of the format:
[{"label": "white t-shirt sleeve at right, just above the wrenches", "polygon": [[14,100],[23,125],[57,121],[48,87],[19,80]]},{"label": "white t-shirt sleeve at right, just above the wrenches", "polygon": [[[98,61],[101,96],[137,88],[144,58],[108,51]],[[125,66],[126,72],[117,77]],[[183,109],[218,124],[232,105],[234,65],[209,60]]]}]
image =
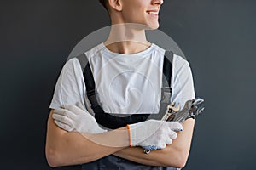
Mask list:
[{"label": "white t-shirt sleeve at right, just above the wrenches", "polygon": [[181,108],[189,99],[195,99],[195,89],[189,62],[174,54],[172,70],[171,101],[180,104]]}]

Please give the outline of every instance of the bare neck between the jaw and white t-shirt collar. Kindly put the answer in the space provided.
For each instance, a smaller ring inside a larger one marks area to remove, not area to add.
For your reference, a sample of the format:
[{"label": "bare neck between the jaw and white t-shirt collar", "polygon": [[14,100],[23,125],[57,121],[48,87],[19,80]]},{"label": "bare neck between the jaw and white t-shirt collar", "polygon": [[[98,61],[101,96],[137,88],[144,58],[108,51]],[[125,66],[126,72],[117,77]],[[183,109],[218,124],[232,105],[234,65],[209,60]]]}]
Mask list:
[{"label": "bare neck between the jaw and white t-shirt collar", "polygon": [[114,53],[136,54],[150,46],[143,26],[135,24],[112,25],[105,46]]}]

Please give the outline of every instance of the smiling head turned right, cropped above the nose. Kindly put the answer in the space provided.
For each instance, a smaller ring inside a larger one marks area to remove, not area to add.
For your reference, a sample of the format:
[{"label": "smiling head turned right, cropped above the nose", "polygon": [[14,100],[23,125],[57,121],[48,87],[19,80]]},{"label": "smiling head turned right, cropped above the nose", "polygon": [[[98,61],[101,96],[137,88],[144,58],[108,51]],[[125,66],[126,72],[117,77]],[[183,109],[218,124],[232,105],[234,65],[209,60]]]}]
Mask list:
[{"label": "smiling head turned right, cropped above the nose", "polygon": [[99,0],[107,9],[112,24],[134,23],[159,27],[159,12],[163,0]]}]

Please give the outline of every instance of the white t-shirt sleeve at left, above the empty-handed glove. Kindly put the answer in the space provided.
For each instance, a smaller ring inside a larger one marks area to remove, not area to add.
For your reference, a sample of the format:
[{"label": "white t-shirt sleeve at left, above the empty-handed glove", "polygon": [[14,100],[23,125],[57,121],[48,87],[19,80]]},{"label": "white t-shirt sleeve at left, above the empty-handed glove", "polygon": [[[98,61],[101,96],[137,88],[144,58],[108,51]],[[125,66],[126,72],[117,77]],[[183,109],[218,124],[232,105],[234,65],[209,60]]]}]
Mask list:
[{"label": "white t-shirt sleeve at left, above the empty-handed glove", "polygon": [[78,102],[84,105],[84,95],[84,77],[79,60],[70,59],[61,70],[49,108],[57,109],[63,105],[76,105]]}]

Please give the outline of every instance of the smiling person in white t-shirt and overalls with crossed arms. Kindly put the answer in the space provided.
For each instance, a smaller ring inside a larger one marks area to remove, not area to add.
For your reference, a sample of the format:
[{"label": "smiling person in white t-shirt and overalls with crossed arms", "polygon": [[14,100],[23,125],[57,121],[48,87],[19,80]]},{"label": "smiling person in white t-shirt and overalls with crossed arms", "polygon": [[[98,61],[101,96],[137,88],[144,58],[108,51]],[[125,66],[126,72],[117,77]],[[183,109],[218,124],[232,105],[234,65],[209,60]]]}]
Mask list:
[{"label": "smiling person in white t-shirt and overalls with crossed arms", "polygon": [[[84,54],[102,109],[121,114],[158,113],[165,49],[148,42],[145,30],[159,27],[163,1],[100,2],[108,10],[112,28],[106,42]],[[171,84],[170,103],[183,106],[195,99],[189,63],[176,54]],[[78,102],[86,109],[77,107]],[[46,157],[51,167],[82,164],[83,169],[177,169],[188,159],[194,119],[183,125],[145,120],[108,132],[99,127],[91,116],[79,59],[64,65],[50,108]],[[145,154],[143,147],[147,146],[157,150]]]}]

